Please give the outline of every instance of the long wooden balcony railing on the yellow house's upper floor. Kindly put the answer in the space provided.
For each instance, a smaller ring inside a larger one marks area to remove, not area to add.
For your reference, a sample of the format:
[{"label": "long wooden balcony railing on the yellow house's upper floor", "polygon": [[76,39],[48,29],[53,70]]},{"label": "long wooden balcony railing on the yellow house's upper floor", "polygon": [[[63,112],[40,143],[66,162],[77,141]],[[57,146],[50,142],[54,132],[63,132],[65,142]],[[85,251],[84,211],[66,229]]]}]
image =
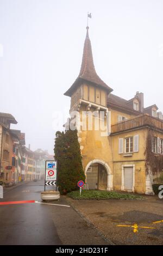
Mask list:
[{"label": "long wooden balcony railing on the yellow house's upper floor", "polygon": [[154,129],[163,131],[163,120],[151,117],[147,114],[143,114],[139,117],[111,125],[111,133],[126,131],[142,126],[151,126]]}]

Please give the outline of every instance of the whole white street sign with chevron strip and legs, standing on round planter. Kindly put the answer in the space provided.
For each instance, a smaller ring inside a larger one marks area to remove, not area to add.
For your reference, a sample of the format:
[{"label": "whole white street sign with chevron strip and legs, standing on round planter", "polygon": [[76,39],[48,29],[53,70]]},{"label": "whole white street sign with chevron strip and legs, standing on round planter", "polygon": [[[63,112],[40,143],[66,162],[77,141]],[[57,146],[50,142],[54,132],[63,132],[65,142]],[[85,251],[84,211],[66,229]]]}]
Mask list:
[{"label": "whole white street sign with chevron strip and legs, standing on round planter", "polygon": [[44,191],[46,186],[56,186],[57,191],[57,161],[55,160],[46,160],[45,161],[45,184]]}]

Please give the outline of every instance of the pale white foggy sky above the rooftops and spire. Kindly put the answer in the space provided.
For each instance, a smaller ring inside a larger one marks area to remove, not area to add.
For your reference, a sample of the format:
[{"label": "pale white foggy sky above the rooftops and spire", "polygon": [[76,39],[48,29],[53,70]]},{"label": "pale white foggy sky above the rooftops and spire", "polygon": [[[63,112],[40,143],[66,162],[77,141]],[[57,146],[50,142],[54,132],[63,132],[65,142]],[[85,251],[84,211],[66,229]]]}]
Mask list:
[{"label": "pale white foggy sky above the rooftops and spire", "polygon": [[143,92],[145,106],[163,111],[162,0],[0,0],[0,112],[14,115],[32,150],[52,154],[68,117],[63,94],[79,74],[87,11],[97,74],[114,94]]}]

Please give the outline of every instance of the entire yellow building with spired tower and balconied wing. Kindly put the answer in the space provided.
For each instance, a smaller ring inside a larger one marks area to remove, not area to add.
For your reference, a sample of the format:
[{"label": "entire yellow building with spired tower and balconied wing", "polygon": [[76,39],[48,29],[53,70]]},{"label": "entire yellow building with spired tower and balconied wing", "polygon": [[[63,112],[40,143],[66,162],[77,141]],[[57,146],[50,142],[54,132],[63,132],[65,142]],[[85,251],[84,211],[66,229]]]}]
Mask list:
[{"label": "entire yellow building with spired tower and balconied wing", "polygon": [[65,93],[66,129],[75,113],[86,187],[153,194],[153,178],[163,169],[162,113],[155,104],[144,107],[143,93],[130,100],[112,94],[96,73],[86,29],[79,76]]}]

